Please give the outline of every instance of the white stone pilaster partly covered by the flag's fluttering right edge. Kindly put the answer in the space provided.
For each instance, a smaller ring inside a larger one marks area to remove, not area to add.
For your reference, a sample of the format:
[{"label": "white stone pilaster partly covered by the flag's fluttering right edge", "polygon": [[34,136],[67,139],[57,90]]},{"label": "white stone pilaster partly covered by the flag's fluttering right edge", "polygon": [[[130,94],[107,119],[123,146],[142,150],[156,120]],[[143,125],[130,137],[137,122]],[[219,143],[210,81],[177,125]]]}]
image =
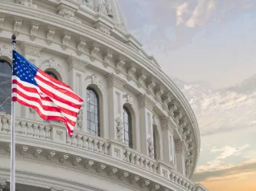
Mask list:
[{"label": "white stone pilaster partly covered by the flag's fluttering right edge", "polygon": [[[68,83],[71,89],[74,90],[82,99],[84,99],[84,104],[86,104],[86,91],[83,91],[83,81],[85,68],[89,64],[80,58],[70,56],[67,58],[68,63]],[[86,128],[86,107],[84,104],[80,108],[80,112],[77,115],[77,124],[75,129],[80,131],[87,131]]]}]

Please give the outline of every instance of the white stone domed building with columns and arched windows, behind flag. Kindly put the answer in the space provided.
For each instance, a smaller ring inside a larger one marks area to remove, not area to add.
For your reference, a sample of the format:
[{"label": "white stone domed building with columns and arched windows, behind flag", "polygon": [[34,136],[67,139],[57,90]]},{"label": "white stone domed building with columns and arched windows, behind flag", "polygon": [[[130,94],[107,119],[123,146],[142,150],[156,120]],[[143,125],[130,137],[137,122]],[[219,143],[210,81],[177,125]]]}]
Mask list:
[{"label": "white stone domed building with columns and arched windows, behind flag", "polygon": [[207,190],[191,180],[192,108],[127,32],[118,0],[0,0],[1,191],[10,187],[11,34],[19,53],[84,99],[72,138],[16,104],[18,191]]}]

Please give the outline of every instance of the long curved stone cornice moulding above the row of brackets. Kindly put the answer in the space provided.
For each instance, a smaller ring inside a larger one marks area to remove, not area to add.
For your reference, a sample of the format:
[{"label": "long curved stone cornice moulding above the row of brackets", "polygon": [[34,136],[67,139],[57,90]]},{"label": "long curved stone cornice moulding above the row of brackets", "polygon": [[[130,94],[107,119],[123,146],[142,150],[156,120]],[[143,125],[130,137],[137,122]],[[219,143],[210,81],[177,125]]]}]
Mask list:
[{"label": "long curved stone cornice moulding above the row of brackets", "polygon": [[[189,116],[189,119],[192,121],[193,126],[193,133],[195,134],[195,147],[196,147],[196,154],[195,154],[195,163],[199,157],[199,147],[200,147],[200,138],[199,138],[199,128],[197,125],[197,121],[195,118],[194,113],[192,112],[192,108],[190,107],[189,103],[185,99],[182,92],[176,87],[174,83],[172,83],[169,76],[163,73],[157,66],[154,66],[152,62],[148,59],[144,58],[143,56],[139,55],[136,50],[133,50],[132,47],[127,46],[126,44],[121,43],[118,40],[113,39],[113,37],[108,37],[107,35],[102,35],[99,31],[94,30],[88,26],[84,26],[83,24],[76,24],[72,21],[68,21],[67,19],[56,17],[56,15],[51,13],[45,13],[44,11],[40,10],[33,10],[30,8],[26,8],[23,6],[19,6],[19,8],[15,8],[15,6],[9,2],[0,2],[0,10],[3,13],[11,14],[11,15],[19,15],[23,18],[28,19],[38,19],[38,21],[42,21],[44,23],[56,25],[59,28],[64,28],[64,30],[70,30],[74,33],[80,35],[87,35],[92,40],[98,41],[106,46],[111,44],[114,47],[114,50],[122,53],[126,57],[129,57],[131,60],[136,62],[139,66],[143,66],[144,68],[151,68],[150,72],[155,73],[159,77],[159,80],[167,86],[169,89],[172,90],[172,93],[175,95],[177,99],[179,99],[179,103],[182,105],[182,108],[185,109],[186,115]],[[15,11],[14,11],[15,10]],[[148,70],[148,69],[147,69]],[[192,171],[195,169],[195,163],[193,165]]]}]

